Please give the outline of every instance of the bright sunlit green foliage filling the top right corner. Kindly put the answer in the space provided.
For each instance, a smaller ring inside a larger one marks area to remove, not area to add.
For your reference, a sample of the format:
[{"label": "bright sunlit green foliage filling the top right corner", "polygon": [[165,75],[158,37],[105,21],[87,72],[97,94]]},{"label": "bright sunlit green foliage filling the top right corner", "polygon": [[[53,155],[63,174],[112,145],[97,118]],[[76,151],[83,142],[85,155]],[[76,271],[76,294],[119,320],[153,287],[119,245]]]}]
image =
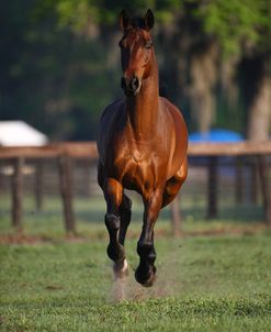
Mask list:
[{"label": "bright sunlit green foliage filling the top right corner", "polygon": [[244,47],[255,52],[270,49],[270,11],[269,0],[212,0],[199,5],[195,15],[227,55],[240,56]]}]

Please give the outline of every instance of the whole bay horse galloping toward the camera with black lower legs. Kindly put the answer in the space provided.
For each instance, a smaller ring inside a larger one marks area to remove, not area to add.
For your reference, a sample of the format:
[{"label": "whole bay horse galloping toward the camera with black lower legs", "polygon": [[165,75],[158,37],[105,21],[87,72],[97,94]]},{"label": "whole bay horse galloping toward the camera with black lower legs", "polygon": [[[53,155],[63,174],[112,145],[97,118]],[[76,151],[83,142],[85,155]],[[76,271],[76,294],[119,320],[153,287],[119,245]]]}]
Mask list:
[{"label": "whole bay horse galloping toward the camera with black lower legs", "polygon": [[150,30],[151,10],[145,16],[120,14],[123,37],[121,86],[124,100],[103,111],[98,134],[98,182],[106,201],[108,255],[116,278],[128,272],[124,241],[132,201],[124,188],[143,197],[144,223],[137,242],[136,280],[149,287],[156,278],[154,226],[161,208],[177,196],[188,174],[188,131],[176,106],[159,97],[158,66]]}]

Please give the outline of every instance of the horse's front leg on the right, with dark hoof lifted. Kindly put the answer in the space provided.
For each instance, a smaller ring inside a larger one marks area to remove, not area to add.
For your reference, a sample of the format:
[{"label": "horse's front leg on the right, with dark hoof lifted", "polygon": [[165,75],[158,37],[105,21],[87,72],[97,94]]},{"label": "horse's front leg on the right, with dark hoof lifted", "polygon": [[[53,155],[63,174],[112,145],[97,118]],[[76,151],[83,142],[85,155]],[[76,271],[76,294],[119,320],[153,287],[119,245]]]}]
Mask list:
[{"label": "horse's front leg on the right, with dark hoof lifted", "polygon": [[144,223],[139,241],[137,242],[137,253],[140,261],[135,272],[135,278],[145,287],[153,286],[156,279],[154,226],[159,215],[161,203],[162,193],[160,191],[156,191],[148,199],[144,199]]}]

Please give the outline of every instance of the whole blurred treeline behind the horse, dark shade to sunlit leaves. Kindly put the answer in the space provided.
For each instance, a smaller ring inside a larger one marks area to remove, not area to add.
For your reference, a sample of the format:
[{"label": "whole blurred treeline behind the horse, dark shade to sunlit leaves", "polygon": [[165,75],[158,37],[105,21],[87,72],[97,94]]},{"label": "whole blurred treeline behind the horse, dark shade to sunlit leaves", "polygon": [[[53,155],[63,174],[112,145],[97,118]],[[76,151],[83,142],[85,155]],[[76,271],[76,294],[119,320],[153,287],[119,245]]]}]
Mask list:
[{"label": "whole blurred treeline behind the horse, dark shade to sunlit leaves", "polygon": [[13,0],[0,10],[0,120],[52,140],[94,140],[122,98],[118,12],[151,8],[160,85],[190,130],[270,131],[270,0]]}]

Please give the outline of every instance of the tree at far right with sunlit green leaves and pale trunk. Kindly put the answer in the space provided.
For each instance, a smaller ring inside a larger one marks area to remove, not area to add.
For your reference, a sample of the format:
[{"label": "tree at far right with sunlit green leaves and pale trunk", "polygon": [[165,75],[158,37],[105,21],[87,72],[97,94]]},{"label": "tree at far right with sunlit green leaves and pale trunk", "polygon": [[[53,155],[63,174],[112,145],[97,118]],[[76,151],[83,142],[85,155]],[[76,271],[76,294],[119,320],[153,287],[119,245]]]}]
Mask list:
[{"label": "tree at far right with sunlit green leaves and pale trunk", "polygon": [[[256,58],[261,64],[255,67],[253,96],[248,106],[248,137],[264,140],[270,130],[270,51],[271,2],[269,0],[208,1],[197,9],[204,31],[213,35],[226,59],[235,63],[245,57]],[[253,68],[252,68],[253,69]],[[245,96],[247,98],[247,96]]]}]

